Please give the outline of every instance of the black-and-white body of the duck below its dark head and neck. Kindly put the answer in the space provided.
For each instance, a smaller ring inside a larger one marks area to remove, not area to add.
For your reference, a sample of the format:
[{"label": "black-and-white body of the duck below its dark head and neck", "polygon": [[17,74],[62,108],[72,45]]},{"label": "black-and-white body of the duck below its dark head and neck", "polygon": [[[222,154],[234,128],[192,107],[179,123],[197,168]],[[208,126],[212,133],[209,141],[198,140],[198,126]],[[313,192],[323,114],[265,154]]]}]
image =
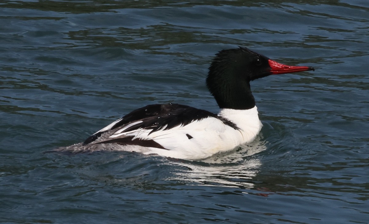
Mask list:
[{"label": "black-and-white body of the duck below its dark head and neck", "polygon": [[116,150],[199,160],[254,140],[261,127],[256,107],[213,114],[180,104],[153,104],[101,129],[84,145],[115,144]]}]

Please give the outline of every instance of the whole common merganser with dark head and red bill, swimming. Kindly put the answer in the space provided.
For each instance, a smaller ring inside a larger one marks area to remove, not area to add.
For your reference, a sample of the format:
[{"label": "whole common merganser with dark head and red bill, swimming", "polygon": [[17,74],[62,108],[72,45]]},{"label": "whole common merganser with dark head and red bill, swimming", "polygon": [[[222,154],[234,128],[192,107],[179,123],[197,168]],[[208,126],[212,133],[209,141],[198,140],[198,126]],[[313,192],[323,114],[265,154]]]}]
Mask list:
[{"label": "whole common merganser with dark head and red bill, swimming", "polygon": [[151,104],[114,121],[83,143],[59,151],[135,151],[201,160],[251,142],[259,120],[250,81],[269,75],[314,70],[289,66],[245,47],[218,52],[206,85],[220,107],[218,114],[181,104]]}]

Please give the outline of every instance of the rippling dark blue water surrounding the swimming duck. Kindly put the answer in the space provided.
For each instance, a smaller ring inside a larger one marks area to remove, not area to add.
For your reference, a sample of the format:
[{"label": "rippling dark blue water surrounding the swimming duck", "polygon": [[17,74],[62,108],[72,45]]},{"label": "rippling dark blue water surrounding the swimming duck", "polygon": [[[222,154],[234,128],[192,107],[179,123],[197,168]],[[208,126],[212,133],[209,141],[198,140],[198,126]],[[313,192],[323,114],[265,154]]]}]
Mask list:
[{"label": "rippling dark blue water surrounding the swimming duck", "polygon": [[[0,1],[0,220],[369,223],[369,4]],[[213,55],[247,46],[315,72],[251,83],[263,129],[191,162],[44,152],[152,103],[217,112]]]}]

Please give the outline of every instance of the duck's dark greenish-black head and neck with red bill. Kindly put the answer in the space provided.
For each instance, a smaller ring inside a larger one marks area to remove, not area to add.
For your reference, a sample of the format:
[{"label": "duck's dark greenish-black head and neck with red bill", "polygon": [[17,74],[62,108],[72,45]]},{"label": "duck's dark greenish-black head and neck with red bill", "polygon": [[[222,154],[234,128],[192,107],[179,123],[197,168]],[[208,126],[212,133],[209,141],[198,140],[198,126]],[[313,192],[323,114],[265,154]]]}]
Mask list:
[{"label": "duck's dark greenish-black head and neck with red bill", "polygon": [[239,47],[216,54],[209,67],[206,85],[220,108],[245,110],[255,106],[250,81],[269,75],[307,70],[314,68],[283,65],[245,47]]}]

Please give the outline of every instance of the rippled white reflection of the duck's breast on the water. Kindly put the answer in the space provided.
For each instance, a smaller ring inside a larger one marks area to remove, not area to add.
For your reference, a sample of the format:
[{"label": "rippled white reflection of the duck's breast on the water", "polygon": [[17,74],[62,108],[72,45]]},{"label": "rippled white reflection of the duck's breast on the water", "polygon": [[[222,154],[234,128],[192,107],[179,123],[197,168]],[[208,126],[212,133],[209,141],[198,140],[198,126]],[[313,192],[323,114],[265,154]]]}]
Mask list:
[{"label": "rippled white reflection of the duck's breast on the water", "polygon": [[185,182],[187,185],[222,186],[239,189],[254,187],[252,178],[262,165],[253,155],[266,150],[266,141],[258,136],[255,141],[242,145],[227,155],[215,155],[203,161],[172,161],[177,166],[185,166],[169,178]]}]

